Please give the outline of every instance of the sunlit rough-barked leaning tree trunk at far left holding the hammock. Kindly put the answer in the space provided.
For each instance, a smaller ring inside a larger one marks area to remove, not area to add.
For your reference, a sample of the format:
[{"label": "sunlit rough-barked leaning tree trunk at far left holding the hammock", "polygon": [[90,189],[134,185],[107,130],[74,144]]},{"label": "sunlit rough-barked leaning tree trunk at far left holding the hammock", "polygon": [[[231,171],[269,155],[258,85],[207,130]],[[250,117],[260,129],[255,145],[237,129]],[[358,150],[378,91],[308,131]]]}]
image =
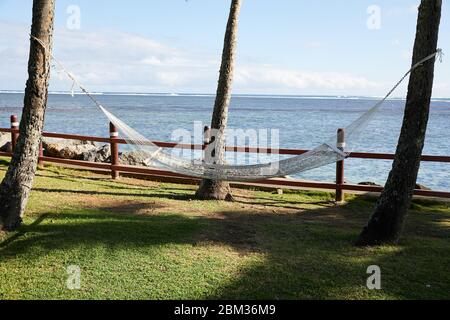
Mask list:
[{"label": "sunlit rough-barked leaning tree trunk at far left holding the hammock", "polygon": [[[51,50],[54,0],[33,1],[31,35]],[[3,182],[0,185],[0,214],[3,229],[20,226],[36,173],[50,77],[50,52],[30,40],[28,81],[19,127],[19,139]]]}]

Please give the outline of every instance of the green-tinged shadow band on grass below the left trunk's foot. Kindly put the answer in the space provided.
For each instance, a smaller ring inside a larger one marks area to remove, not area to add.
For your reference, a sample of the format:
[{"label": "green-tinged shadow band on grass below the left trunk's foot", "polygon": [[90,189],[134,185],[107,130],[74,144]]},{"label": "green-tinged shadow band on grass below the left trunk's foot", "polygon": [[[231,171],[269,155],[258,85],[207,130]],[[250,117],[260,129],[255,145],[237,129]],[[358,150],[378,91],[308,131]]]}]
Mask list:
[{"label": "green-tinged shadow band on grass below the left trunk's foot", "polygon": [[[82,213],[69,210],[59,214],[47,214],[40,223],[23,226],[16,234],[0,244],[0,260],[26,256],[27,260],[39,259],[53,250],[94,248],[107,246],[134,250],[164,244],[195,243],[194,235],[200,224],[185,216],[138,215],[141,204],[134,208],[124,205],[121,213],[106,213],[105,209],[83,209]],[[123,212],[123,213],[122,213]]]}]

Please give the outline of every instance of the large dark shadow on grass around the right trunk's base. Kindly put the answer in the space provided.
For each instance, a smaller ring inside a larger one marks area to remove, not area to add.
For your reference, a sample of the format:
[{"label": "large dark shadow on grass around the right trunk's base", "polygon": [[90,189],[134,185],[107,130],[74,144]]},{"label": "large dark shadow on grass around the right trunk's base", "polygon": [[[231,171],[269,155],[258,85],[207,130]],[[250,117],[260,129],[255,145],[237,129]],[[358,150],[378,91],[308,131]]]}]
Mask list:
[{"label": "large dark shadow on grass around the right trunk's base", "polygon": [[[265,253],[263,262],[208,298],[217,299],[448,299],[450,240],[439,233],[418,237],[408,228],[397,247],[357,248],[355,213],[334,208],[274,218],[224,212],[209,241]],[[339,219],[343,218],[343,219]],[[236,239],[245,239],[245,242]],[[380,266],[381,291],[366,287],[367,268]]]}]

